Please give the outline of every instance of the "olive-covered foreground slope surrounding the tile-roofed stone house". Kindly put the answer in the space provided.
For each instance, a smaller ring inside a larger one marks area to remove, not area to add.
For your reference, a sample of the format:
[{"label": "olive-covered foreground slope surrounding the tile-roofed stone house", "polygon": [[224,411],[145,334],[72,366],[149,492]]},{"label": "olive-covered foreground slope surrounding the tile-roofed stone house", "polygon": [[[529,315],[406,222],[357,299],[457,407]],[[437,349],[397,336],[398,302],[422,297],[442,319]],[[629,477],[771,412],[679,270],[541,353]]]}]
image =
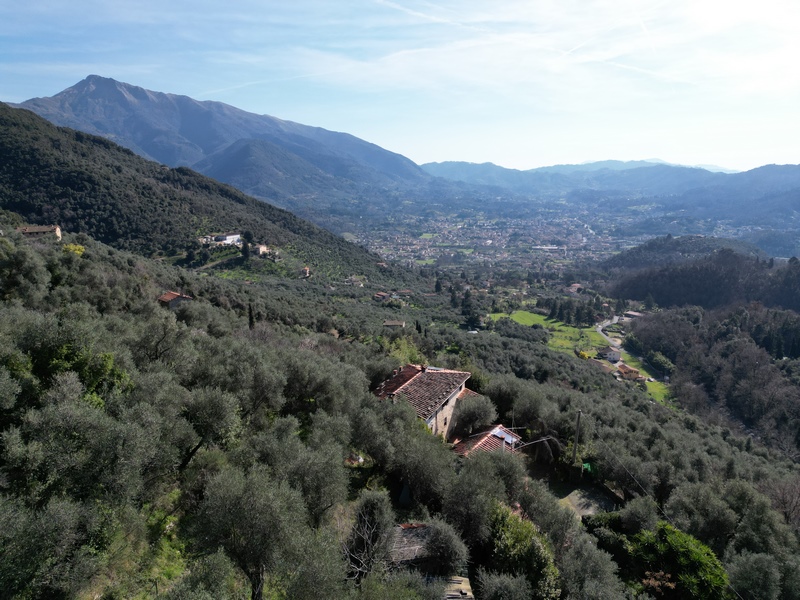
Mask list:
[{"label": "olive-covered foreground slope surrounding the tile-roofed stone house", "polygon": [[[765,578],[769,597],[800,589],[798,515],[780,502],[794,467],[528,328],[466,334],[445,296],[415,309],[419,330],[376,336],[368,296],[64,242],[0,241],[3,597],[438,598],[414,571],[386,570],[393,524],[419,520],[439,532],[429,568],[468,565],[482,598],[616,599],[663,581],[687,597],[692,569],[707,570],[706,597],[728,578],[751,595]],[[194,300],[159,307],[174,288]],[[338,337],[315,332],[320,315]],[[471,371],[491,400],[473,425],[553,442],[457,461],[404,403],[370,393],[408,360]],[[572,472],[577,410],[578,462],[634,499],[589,529],[526,476]],[[690,566],[680,552],[696,553]]]}]

